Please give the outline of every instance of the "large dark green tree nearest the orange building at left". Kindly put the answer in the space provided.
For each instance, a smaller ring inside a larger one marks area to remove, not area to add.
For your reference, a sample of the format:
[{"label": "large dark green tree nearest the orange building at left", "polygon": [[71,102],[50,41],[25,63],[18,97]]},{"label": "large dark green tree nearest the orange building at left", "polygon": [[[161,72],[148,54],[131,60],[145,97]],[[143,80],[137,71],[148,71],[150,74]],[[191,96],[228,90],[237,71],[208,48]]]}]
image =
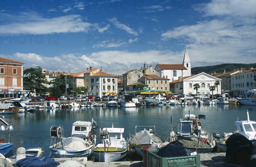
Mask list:
[{"label": "large dark green tree nearest the orange building at left", "polygon": [[30,90],[37,95],[46,95],[48,91],[47,84],[47,78],[43,75],[41,67],[36,66],[23,72],[24,89]]}]

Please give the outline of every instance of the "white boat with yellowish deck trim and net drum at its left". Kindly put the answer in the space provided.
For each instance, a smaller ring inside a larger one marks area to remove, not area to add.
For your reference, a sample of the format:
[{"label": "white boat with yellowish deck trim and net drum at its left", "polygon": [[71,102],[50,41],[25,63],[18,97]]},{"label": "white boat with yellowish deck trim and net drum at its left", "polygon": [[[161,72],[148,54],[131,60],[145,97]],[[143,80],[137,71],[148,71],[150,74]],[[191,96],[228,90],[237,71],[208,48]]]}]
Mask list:
[{"label": "white boat with yellowish deck trim and net drum at its left", "polygon": [[123,137],[124,128],[103,128],[99,131],[102,141],[93,148],[94,157],[100,162],[122,159],[127,154],[127,141]]}]

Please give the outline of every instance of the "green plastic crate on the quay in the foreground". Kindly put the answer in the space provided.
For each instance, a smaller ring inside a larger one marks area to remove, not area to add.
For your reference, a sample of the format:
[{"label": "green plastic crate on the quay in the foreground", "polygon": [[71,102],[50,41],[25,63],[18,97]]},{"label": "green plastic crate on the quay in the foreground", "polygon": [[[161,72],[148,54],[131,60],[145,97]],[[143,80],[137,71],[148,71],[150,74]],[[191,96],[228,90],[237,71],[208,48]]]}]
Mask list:
[{"label": "green plastic crate on the quay in the foreground", "polygon": [[157,150],[147,151],[147,167],[201,167],[200,155],[162,158]]}]

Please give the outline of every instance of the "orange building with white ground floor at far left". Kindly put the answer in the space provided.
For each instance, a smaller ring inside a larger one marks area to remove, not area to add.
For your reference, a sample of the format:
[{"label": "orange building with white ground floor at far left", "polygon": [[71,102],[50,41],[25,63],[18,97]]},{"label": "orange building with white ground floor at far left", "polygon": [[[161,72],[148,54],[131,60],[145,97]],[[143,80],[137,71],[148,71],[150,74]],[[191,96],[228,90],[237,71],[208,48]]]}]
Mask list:
[{"label": "orange building with white ground floor at far left", "polygon": [[24,64],[0,57],[0,92],[15,94],[15,92],[23,90]]}]

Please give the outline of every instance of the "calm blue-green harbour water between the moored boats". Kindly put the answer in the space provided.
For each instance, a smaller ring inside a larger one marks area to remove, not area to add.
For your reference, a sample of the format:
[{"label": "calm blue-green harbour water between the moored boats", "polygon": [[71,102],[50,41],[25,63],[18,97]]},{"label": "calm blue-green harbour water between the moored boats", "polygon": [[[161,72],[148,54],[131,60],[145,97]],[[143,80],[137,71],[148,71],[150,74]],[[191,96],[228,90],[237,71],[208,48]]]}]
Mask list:
[{"label": "calm blue-green harbour water between the moored boats", "polygon": [[[93,118],[99,128],[125,128],[124,137],[135,132],[135,126],[155,126],[156,132],[166,138],[175,128],[179,119],[190,112],[194,115],[206,115],[200,119],[202,126],[209,132],[232,132],[236,130],[234,121],[247,120],[247,110],[250,120],[256,120],[256,106],[214,105],[214,106],[159,106],[137,108],[71,108],[71,109],[37,109],[34,112],[18,113],[17,115],[0,115],[5,121],[11,121],[14,130],[11,131],[14,153],[18,147],[44,147],[44,156],[50,153],[50,127],[52,125],[64,128],[64,137],[71,135],[72,124],[75,121],[91,121]],[[172,118],[172,125],[171,125]],[[99,128],[96,134],[99,134]],[[6,132],[1,137],[7,140]],[[99,142],[99,138],[97,138]]]}]

